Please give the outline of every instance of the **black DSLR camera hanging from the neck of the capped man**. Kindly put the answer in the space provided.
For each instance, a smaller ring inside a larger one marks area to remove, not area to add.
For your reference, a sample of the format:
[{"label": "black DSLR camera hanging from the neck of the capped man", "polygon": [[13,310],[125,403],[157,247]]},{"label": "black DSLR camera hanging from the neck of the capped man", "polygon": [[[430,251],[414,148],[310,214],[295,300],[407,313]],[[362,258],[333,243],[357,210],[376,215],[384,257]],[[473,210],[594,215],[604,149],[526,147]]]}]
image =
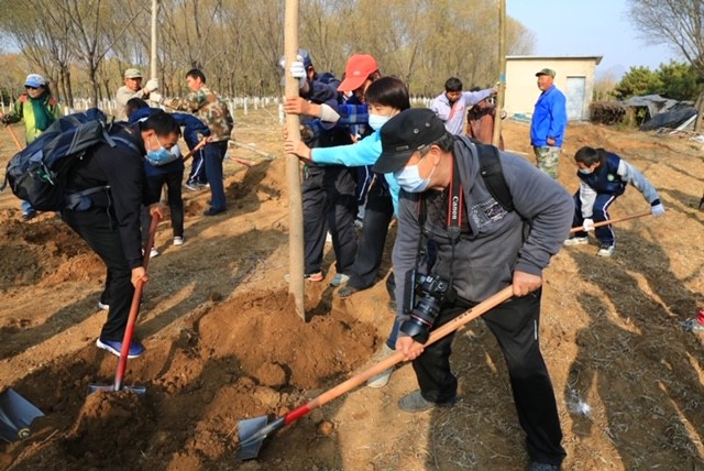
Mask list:
[{"label": "black DSLR camera hanging from the neck of the capped man", "polygon": [[[416,274],[415,270],[409,272],[406,283],[410,289],[407,291],[409,296],[404,311],[410,315],[410,319],[402,322],[400,330],[415,341],[426,343],[440,308],[444,303],[454,302],[457,292],[450,282],[436,275]],[[415,303],[416,297],[418,303]],[[408,309],[411,305],[413,308]]]}]

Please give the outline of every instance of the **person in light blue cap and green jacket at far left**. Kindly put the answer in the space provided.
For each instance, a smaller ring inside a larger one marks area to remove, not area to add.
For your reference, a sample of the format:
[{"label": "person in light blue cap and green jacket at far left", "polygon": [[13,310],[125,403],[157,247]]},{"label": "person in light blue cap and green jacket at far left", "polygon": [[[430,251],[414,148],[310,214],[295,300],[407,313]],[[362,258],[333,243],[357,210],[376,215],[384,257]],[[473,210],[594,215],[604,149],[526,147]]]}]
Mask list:
[{"label": "person in light blue cap and green jacket at far left", "polygon": [[[46,79],[38,74],[30,74],[24,80],[26,94],[22,94],[14,102],[12,111],[2,116],[0,121],[8,125],[24,121],[24,135],[31,144],[46,128],[62,117],[58,100],[52,97]],[[22,201],[22,219],[29,221],[36,211],[28,201]]]}]

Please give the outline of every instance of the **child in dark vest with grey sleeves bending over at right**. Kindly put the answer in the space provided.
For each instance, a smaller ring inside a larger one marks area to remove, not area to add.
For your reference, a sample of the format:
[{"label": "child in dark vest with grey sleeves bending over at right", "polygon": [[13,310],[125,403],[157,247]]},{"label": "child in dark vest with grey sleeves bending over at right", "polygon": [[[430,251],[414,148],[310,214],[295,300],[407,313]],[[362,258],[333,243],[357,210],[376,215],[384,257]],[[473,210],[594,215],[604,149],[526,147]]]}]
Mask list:
[{"label": "child in dark vest with grey sleeves bending over at right", "polygon": [[580,177],[580,189],[574,194],[572,226],[581,226],[583,230],[565,240],[565,245],[587,243],[587,231],[593,230],[601,243],[597,255],[610,256],[616,243],[614,230],[610,224],[594,228],[594,223],[608,221],[608,207],[626,191],[627,184],[642,193],[650,204],[652,216],[664,213],[658,191],[650,182],[618,155],[604,149],[584,146],[576,151],[574,161],[580,167],[576,174]]}]

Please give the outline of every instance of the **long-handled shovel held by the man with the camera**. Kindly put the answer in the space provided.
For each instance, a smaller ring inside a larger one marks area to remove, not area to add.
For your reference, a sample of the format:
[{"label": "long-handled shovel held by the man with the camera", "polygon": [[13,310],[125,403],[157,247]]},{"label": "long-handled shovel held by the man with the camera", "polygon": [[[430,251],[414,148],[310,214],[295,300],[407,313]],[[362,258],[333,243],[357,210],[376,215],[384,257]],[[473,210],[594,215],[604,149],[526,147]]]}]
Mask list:
[{"label": "long-handled shovel held by the man with the camera", "polygon": [[[458,330],[460,327],[470,322],[471,320],[476,319],[487,310],[498,306],[499,304],[508,300],[514,295],[514,291],[512,286],[507,286],[501,292],[496,293],[494,296],[488,299],[477,304],[472,309],[461,314],[455,317],[448,324],[439,327],[430,333],[430,338],[425,343],[425,346],[429,346],[439,339],[443,338],[450,332]],[[295,420],[307,415],[315,408],[322,406],[323,404],[329,403],[330,401],[341,396],[342,394],[353,390],[354,387],[363,384],[370,377],[381,373],[384,370],[388,370],[396,363],[404,360],[404,354],[402,352],[396,352],[393,355],[382,360],[376,363],[369,370],[359,373],[343,383],[338,384],[331,390],[326,391],[320,394],[318,397],[314,398],[309,403],[289,412],[283,417],[277,418],[273,423],[267,424],[267,416],[250,418],[245,420],[240,420],[238,424],[238,436],[240,437],[240,449],[238,450],[238,458],[241,460],[251,460],[256,458],[260,449],[262,448],[262,442],[266,436],[285,425],[288,425]]]}]

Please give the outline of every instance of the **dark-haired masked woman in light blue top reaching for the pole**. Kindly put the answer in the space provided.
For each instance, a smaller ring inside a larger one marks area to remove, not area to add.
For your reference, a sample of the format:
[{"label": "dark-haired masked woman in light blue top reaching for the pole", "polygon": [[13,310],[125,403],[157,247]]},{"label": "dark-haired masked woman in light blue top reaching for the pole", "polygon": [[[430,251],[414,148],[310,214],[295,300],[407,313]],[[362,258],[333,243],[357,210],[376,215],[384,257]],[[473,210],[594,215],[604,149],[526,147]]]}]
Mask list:
[{"label": "dark-haired masked woman in light blue top reaching for the pole", "polygon": [[[316,164],[345,165],[350,167],[373,165],[382,154],[380,130],[392,117],[410,108],[408,88],[400,79],[382,77],[373,81],[365,90],[369,105],[369,125],[374,133],[355,144],[337,147],[309,149],[300,141],[287,140],[285,150],[296,154],[302,161]],[[374,180],[367,194],[366,210],[362,238],[358,247],[356,258],[348,284],[340,288],[338,296],[348,297],[353,293],[374,285],[378,269],[382,264],[384,244],[388,232],[388,224],[394,216],[394,208],[398,202],[399,186],[393,175],[374,175]],[[389,280],[393,280],[393,274]],[[389,282],[387,282],[388,284]],[[393,284],[393,281],[391,281]],[[391,289],[393,292],[393,288]],[[391,354],[396,344],[397,326],[384,346],[383,355]],[[387,370],[369,381],[372,387],[382,387],[388,383],[393,370]]]}]

